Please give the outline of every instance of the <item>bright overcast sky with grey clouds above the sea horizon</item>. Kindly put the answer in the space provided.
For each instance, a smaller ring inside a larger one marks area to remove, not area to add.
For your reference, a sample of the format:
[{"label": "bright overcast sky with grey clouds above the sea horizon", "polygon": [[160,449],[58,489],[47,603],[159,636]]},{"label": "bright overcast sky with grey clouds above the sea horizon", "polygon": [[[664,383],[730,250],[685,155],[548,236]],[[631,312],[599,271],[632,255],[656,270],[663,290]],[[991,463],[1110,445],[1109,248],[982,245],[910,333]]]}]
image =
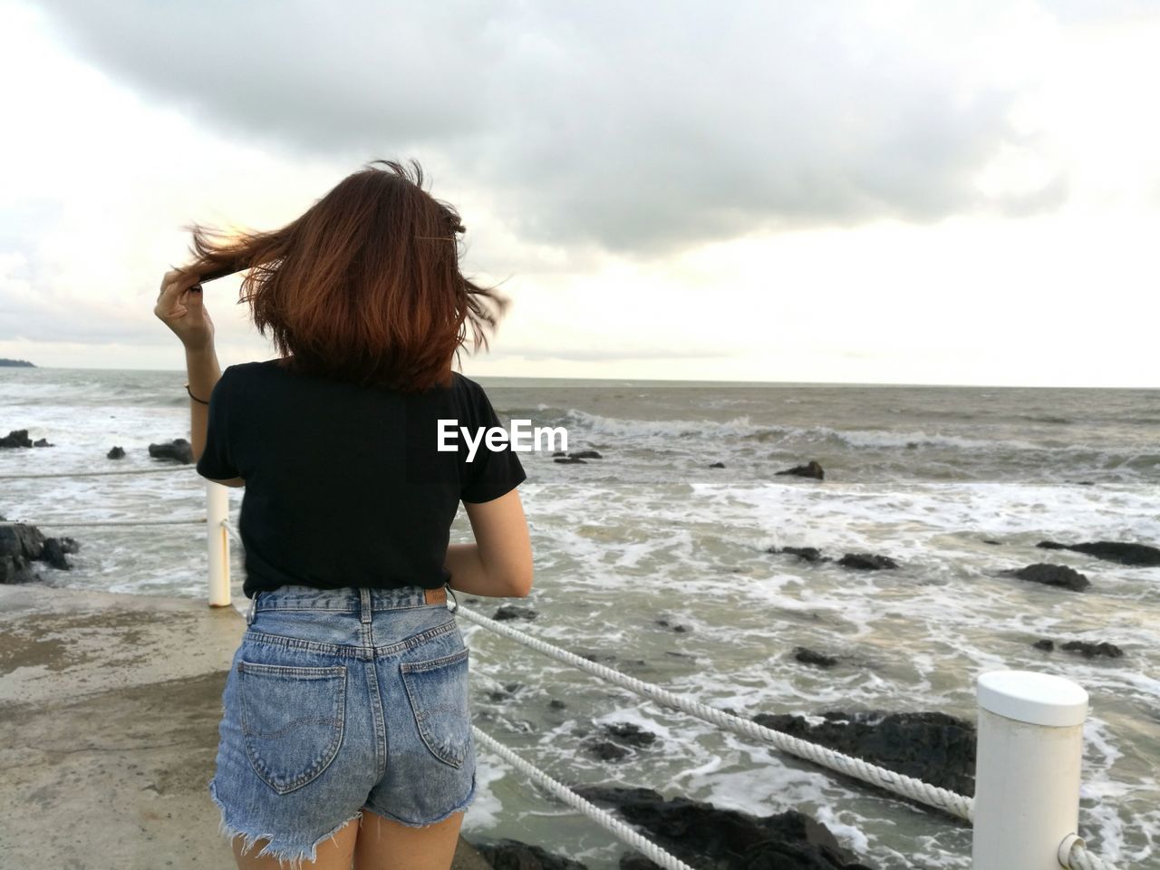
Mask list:
[{"label": "bright overcast sky with grey clouds above the sea horizon", "polygon": [[[1160,2],[0,0],[0,356],[180,369],[182,226],[418,159],[472,376],[1160,387]],[[223,365],[274,356],[210,284]]]}]

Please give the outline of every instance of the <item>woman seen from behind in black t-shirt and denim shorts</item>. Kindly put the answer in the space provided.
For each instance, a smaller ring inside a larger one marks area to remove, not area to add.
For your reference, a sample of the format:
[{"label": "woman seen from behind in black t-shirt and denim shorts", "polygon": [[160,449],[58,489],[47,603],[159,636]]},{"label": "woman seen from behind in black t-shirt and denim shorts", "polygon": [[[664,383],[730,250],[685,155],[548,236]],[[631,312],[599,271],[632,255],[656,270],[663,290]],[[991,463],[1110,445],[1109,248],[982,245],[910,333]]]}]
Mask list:
[{"label": "woman seen from behind in black t-shirt and denim shorts", "polygon": [[[438,421],[499,426],[451,364],[507,302],[459,271],[464,227],[418,164],[368,164],[274,232],[193,232],[154,313],[186,347],[198,473],[246,487],[222,833],[239,868],[445,870],[476,793],[447,590],[522,597],[532,565],[519,458],[440,450]],[[280,356],[222,372],[198,282],[240,268]],[[449,545],[459,501],[476,543]]]}]

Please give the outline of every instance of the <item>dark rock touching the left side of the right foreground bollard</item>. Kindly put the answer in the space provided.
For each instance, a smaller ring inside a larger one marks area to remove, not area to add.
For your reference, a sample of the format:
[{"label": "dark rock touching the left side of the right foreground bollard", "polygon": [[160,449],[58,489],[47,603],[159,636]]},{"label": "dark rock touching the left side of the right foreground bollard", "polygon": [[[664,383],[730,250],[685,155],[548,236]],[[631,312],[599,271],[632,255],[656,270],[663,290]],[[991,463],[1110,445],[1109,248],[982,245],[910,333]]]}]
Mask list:
[{"label": "dark rock touching the left side of the right foreground bollard", "polygon": [[826,722],[818,725],[790,715],[757,713],[753,720],[959,795],[974,793],[973,723],[943,712],[822,716]]}]

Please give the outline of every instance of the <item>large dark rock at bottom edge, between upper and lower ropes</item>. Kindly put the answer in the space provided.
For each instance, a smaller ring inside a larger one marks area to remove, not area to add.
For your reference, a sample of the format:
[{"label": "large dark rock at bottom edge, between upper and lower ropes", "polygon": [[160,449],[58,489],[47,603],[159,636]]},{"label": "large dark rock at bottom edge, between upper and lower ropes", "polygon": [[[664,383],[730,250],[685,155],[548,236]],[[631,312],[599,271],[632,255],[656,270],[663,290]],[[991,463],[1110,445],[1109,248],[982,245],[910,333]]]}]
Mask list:
[{"label": "large dark rock at bottom edge, between upper and lower ropes", "polygon": [[[789,810],[751,815],[689,798],[665,799],[652,789],[579,785],[574,790],[596,804],[610,804],[624,819],[644,828],[650,840],[704,870],[869,870],[842,848],[829,829]],[[652,868],[632,856],[621,867]]]}]

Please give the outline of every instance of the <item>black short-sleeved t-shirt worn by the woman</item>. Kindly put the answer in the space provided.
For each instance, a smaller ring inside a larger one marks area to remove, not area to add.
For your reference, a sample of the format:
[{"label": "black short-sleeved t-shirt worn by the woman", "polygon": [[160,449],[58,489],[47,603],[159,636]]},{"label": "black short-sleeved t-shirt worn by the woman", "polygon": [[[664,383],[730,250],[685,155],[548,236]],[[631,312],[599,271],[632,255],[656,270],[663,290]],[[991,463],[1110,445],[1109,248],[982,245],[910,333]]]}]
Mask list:
[{"label": "black short-sleeved t-shirt worn by the woman", "polygon": [[[440,420],[444,436],[440,451]],[[404,393],[290,372],[277,360],[230,365],[213,387],[197,473],[246,481],[239,534],[252,599],[300,583],[438,588],[459,501],[484,502],[527,477],[510,442],[469,462],[480,428],[501,427],[484,389]],[[499,438],[495,438],[498,443]]]}]

